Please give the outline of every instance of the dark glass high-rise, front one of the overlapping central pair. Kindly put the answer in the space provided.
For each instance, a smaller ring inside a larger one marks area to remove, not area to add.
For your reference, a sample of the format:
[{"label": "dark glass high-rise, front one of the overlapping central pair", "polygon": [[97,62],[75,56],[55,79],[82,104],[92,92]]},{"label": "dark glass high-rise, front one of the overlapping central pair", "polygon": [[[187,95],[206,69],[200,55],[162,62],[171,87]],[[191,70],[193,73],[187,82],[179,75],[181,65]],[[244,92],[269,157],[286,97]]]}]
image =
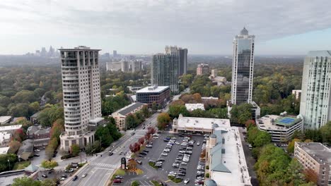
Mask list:
[{"label": "dark glass high-rise, front one of the overlapping central pair", "polygon": [[156,54],[151,63],[151,85],[169,86],[178,93],[178,55]]}]

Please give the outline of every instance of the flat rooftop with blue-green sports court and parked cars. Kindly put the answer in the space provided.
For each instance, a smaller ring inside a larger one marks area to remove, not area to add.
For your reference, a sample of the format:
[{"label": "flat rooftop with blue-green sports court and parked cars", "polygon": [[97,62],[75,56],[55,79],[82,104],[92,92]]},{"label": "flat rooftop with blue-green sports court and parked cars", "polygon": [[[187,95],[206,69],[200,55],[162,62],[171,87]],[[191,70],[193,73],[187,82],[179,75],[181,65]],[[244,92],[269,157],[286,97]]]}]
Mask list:
[{"label": "flat rooftop with blue-green sports court and parked cars", "polygon": [[264,130],[287,130],[287,128],[301,121],[300,118],[294,116],[266,115],[259,118],[256,124]]}]

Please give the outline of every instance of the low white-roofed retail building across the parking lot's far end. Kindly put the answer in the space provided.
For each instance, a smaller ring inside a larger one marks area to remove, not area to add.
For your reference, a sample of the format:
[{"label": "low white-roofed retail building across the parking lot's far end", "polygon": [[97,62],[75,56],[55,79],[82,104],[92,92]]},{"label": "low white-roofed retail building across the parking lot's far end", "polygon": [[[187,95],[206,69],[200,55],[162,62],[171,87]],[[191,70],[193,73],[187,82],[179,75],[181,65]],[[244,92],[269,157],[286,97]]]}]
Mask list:
[{"label": "low white-roofed retail building across the parking lot's far end", "polygon": [[230,120],[216,118],[193,118],[184,117],[182,114],[173,119],[171,132],[192,132],[194,134],[211,134],[215,126],[230,127]]}]

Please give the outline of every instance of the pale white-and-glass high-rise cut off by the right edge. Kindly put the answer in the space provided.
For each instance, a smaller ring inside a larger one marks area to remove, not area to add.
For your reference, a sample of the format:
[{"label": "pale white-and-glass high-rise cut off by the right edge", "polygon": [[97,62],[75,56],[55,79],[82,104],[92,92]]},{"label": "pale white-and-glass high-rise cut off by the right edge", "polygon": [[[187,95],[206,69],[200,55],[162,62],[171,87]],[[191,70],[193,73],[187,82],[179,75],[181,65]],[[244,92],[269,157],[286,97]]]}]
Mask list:
[{"label": "pale white-and-glass high-rise cut off by the right edge", "polygon": [[303,63],[300,114],[304,128],[331,120],[331,51],[310,51]]}]

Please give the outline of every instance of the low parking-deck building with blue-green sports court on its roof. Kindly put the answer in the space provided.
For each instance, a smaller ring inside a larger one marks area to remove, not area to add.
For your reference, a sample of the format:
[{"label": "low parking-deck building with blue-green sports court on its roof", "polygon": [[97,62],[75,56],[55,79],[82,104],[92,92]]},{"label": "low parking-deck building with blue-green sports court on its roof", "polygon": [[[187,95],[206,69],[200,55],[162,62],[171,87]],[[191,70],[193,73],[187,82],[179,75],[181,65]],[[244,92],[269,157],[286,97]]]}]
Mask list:
[{"label": "low parking-deck building with blue-green sports court on its roof", "polygon": [[256,125],[272,136],[272,142],[287,142],[296,130],[302,130],[303,120],[300,116],[266,115],[257,119]]}]

